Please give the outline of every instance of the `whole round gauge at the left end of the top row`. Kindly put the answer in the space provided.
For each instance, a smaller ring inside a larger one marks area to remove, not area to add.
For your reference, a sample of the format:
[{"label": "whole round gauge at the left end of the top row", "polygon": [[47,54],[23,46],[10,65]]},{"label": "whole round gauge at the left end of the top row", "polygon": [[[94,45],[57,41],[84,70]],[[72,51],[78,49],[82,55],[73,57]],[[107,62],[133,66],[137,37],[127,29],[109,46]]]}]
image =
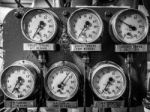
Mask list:
[{"label": "whole round gauge at the left end of the top row", "polygon": [[57,33],[57,16],[44,9],[31,9],[25,13],[21,21],[24,36],[35,43],[51,40]]}]

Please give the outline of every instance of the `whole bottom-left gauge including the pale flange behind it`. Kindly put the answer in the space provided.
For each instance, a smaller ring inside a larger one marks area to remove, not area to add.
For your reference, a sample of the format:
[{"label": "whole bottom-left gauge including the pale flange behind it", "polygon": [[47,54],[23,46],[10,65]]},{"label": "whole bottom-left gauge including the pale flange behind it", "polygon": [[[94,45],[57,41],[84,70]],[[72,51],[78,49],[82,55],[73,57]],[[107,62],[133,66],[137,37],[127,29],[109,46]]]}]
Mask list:
[{"label": "whole bottom-left gauge including the pale flange behind it", "polygon": [[30,61],[20,60],[7,67],[1,75],[1,87],[10,99],[22,100],[35,90],[39,69]]}]

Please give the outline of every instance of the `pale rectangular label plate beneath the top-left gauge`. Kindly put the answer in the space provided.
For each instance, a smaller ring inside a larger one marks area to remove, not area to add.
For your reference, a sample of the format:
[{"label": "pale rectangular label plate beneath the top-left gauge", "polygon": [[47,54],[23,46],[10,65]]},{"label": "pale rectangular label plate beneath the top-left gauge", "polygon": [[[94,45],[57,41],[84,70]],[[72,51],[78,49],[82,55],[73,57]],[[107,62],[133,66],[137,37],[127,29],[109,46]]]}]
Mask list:
[{"label": "pale rectangular label plate beneath the top-left gauge", "polygon": [[23,50],[25,51],[54,51],[55,44],[36,44],[36,43],[24,43]]}]

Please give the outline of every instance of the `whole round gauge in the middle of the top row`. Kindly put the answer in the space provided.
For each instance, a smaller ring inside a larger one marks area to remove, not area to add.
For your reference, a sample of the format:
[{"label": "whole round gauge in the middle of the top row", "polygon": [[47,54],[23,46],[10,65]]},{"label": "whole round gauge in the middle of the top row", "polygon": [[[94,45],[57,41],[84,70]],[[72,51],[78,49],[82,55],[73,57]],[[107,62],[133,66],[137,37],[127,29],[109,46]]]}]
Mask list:
[{"label": "whole round gauge in the middle of the top row", "polygon": [[76,10],[69,18],[68,33],[79,43],[96,41],[103,30],[103,22],[97,12],[91,9]]}]

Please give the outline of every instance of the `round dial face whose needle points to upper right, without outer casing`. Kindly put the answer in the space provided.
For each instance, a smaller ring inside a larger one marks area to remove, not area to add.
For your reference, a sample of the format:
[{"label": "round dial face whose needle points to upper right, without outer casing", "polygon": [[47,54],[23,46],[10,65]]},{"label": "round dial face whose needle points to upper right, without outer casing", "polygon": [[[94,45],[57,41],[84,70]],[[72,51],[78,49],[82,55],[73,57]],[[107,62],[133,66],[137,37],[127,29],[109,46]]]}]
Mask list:
[{"label": "round dial face whose needle points to upper right, without outer casing", "polygon": [[48,88],[56,100],[68,100],[78,90],[77,74],[68,67],[55,68],[48,76]]}]

